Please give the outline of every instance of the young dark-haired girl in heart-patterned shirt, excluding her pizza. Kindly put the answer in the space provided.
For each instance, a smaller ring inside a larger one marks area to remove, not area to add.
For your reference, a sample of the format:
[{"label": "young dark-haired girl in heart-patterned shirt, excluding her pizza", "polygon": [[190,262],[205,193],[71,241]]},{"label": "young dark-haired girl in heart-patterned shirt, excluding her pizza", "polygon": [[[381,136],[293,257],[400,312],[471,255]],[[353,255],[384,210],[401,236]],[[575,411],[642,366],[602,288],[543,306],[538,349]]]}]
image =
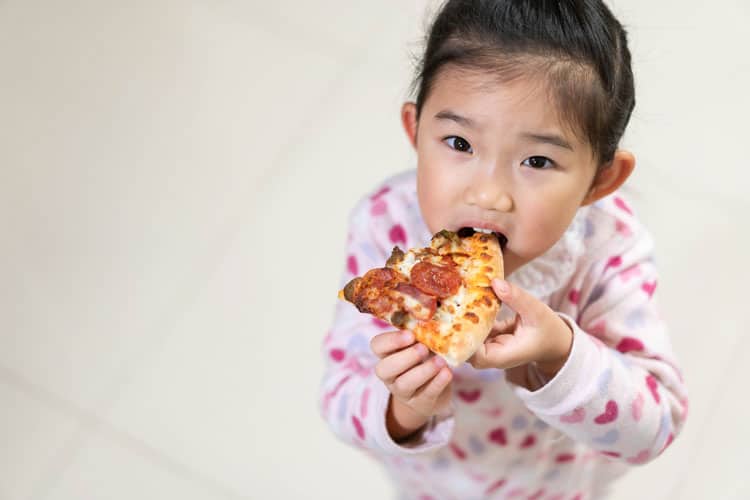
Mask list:
[{"label": "young dark-haired girl in heart-patterned shirt, excluding her pizza", "polygon": [[[403,499],[593,499],[682,427],[653,243],[617,191],[635,159],[626,33],[598,0],[449,0],[401,117],[416,172],[355,207],[343,286],[441,229],[507,238],[495,328],[451,370],[336,308],[321,411]],[[335,293],[332,292],[332,293]]]}]

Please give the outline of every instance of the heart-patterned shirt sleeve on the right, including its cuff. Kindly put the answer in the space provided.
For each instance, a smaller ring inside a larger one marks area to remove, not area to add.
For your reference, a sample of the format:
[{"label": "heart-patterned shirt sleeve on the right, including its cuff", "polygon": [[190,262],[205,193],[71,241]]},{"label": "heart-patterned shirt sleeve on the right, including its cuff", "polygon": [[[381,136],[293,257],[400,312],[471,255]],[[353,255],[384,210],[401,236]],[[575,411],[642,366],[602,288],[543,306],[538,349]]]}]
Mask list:
[{"label": "heart-patterned shirt sleeve on the right, including its cuff", "polygon": [[[615,245],[612,245],[615,246]],[[592,265],[570,356],[536,391],[517,394],[576,441],[631,464],[661,454],[680,432],[687,393],[654,292],[657,268],[645,230]]]}]

